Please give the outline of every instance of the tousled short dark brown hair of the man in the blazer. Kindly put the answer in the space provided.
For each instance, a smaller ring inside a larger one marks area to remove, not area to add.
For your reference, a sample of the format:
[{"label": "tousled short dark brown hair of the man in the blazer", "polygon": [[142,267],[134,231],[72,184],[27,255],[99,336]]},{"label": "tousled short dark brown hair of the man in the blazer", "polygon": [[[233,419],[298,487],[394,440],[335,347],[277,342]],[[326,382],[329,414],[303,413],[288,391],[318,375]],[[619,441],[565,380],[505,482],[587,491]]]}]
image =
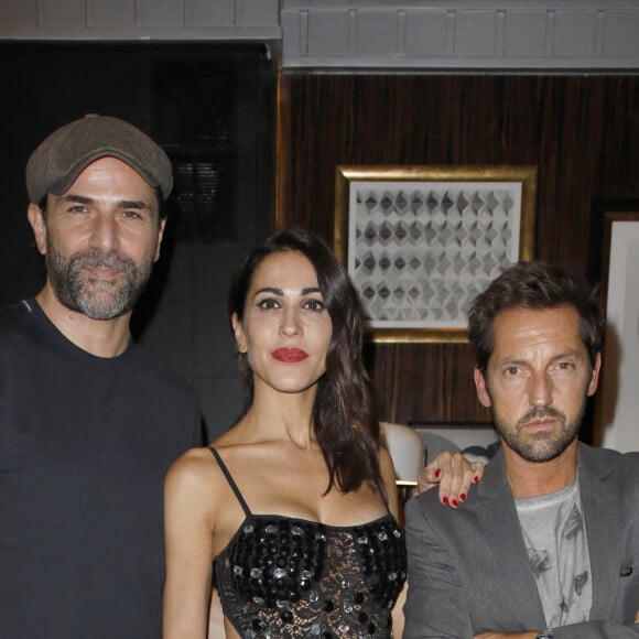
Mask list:
[{"label": "tousled short dark brown hair of the man in the blazer", "polygon": [[486,372],[492,354],[492,325],[497,315],[510,308],[556,308],[573,306],[580,314],[581,336],[591,365],[602,351],[605,320],[597,291],[561,267],[544,262],[518,262],[501,273],[475,297],[468,312],[468,339],[475,359]]}]

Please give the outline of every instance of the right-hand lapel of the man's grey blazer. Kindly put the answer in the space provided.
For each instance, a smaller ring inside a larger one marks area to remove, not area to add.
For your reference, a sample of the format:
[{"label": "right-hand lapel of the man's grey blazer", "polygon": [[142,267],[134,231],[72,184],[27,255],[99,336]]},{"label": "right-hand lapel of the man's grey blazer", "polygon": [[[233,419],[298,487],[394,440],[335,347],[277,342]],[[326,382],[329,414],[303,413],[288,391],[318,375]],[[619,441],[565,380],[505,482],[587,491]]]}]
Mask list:
[{"label": "right-hand lapel of the man's grey blazer", "polygon": [[588,539],[593,583],[591,619],[611,618],[619,582],[619,494],[591,448],[580,444],[580,491]]}]

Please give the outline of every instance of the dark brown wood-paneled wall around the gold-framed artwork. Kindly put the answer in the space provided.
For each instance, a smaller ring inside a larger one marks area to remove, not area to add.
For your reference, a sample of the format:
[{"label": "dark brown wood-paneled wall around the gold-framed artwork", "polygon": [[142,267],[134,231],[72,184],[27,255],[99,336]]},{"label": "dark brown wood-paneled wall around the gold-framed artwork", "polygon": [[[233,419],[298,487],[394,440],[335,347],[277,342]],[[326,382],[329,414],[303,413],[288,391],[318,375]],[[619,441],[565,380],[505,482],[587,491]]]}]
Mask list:
[{"label": "dark brown wood-paneled wall around the gold-framed artwork", "polygon": [[[279,226],[332,242],[338,164],[534,164],[535,257],[585,275],[592,210],[639,199],[639,76],[283,73]],[[489,420],[467,345],[368,350],[383,419]]]}]

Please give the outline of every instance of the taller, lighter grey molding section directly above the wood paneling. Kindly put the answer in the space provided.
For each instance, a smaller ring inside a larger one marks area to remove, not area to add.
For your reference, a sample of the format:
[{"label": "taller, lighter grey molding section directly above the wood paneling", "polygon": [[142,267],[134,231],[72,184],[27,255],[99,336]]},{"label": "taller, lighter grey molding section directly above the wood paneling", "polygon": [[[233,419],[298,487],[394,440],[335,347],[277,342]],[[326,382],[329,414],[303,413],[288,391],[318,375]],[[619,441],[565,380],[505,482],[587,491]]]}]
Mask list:
[{"label": "taller, lighter grey molding section directly above the wood paneling", "polygon": [[639,0],[284,0],[281,21],[286,67],[639,67]]}]

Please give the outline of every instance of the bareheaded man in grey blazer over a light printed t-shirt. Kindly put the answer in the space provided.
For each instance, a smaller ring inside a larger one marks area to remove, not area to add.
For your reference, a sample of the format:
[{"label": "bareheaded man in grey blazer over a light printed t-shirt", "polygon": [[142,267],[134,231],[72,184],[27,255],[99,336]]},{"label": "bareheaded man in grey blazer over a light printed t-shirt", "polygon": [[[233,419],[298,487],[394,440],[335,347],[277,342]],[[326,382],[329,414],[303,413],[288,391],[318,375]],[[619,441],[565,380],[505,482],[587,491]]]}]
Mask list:
[{"label": "bareheaded man in grey blazer over a light printed t-shirt", "polygon": [[408,503],[405,639],[639,637],[639,456],[577,441],[603,331],[591,288],[540,262],[475,300],[475,385],[502,445],[458,510]]}]

